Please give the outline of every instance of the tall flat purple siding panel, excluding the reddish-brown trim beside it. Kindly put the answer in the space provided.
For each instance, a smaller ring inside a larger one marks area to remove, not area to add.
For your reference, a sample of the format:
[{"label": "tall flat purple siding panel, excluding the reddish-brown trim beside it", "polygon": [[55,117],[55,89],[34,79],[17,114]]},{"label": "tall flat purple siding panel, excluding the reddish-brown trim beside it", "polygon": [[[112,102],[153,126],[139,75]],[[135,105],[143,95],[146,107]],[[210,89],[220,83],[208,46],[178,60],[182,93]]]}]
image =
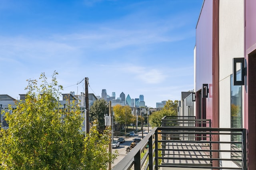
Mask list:
[{"label": "tall flat purple siding panel, excluding the reddish-brown trim beside it", "polygon": [[[212,18],[213,2],[204,1],[196,26],[196,92],[202,84],[212,87]],[[212,119],[212,89],[206,100],[206,119]],[[198,113],[198,108],[196,108]]]}]

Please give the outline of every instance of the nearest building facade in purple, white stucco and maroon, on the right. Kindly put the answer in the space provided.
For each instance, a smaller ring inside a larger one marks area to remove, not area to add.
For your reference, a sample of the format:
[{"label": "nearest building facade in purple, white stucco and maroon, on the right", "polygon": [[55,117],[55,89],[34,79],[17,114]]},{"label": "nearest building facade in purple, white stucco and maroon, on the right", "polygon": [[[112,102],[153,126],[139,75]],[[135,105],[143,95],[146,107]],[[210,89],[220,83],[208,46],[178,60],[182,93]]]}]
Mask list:
[{"label": "nearest building facade in purple, white stucco and maroon, on the right", "polygon": [[[255,0],[204,0],[196,25],[195,92],[197,119],[212,127],[248,130],[248,169],[256,167],[256,8]],[[247,74],[246,74],[247,73]],[[216,141],[237,141],[225,135]],[[233,149],[224,144],[213,149]],[[235,158],[232,154],[214,154]],[[236,167],[238,162],[213,162]]]}]

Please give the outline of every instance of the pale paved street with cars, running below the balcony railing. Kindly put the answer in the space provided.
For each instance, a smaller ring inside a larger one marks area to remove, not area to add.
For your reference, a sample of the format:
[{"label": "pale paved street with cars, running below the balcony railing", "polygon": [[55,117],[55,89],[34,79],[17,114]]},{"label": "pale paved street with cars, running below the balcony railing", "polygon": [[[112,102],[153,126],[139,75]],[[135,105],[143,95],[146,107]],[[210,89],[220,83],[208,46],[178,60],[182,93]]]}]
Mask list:
[{"label": "pale paved street with cars, running below the balcony railing", "polygon": [[[151,127],[149,127],[149,130],[151,130]],[[147,134],[148,134],[148,127],[143,127],[143,137],[145,137]],[[114,164],[112,164],[112,168],[113,168],[118,162],[120,162],[120,161],[124,158],[124,156],[126,156],[126,148],[131,145],[131,143],[132,143],[132,141],[133,141],[133,139],[134,139],[135,137],[140,137],[140,138],[142,138],[142,132],[139,131],[139,132],[137,132],[137,133],[135,134],[134,137],[128,137],[128,138],[125,139],[125,142],[124,142],[124,143],[120,143],[120,147],[117,148],[117,150],[118,150],[118,157],[117,157],[116,160],[114,160]],[[118,137],[114,137],[114,140],[117,140],[117,139],[118,139]],[[116,150],[116,149],[113,148],[113,151],[114,151],[114,150]]]}]

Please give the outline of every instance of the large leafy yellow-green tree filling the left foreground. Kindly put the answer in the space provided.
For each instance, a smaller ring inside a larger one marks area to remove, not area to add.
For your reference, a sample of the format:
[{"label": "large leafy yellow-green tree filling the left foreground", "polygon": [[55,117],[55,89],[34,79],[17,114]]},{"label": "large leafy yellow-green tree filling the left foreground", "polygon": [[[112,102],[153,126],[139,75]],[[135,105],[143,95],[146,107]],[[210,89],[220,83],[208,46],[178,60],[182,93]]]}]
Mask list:
[{"label": "large leafy yellow-green tree filling the left foreground", "polygon": [[[92,159],[86,152],[95,147],[88,140],[100,141],[95,148],[102,157],[98,164],[115,157],[111,153],[102,152],[108,139],[95,134],[92,128],[84,139],[80,134],[82,118],[79,106],[73,103],[68,111],[59,109],[59,90],[54,72],[50,84],[44,73],[41,74],[42,84],[38,87],[37,80],[27,80],[28,90],[25,101],[20,101],[16,109],[6,112],[7,130],[1,130],[0,162],[1,169],[14,170],[82,170]],[[11,112],[12,111],[12,112]],[[91,146],[92,145],[92,146]],[[87,148],[88,147],[88,148]],[[96,151],[95,151],[96,152]],[[86,155],[85,155],[86,154]],[[94,156],[94,155],[93,155]],[[102,166],[105,167],[105,166]]]}]

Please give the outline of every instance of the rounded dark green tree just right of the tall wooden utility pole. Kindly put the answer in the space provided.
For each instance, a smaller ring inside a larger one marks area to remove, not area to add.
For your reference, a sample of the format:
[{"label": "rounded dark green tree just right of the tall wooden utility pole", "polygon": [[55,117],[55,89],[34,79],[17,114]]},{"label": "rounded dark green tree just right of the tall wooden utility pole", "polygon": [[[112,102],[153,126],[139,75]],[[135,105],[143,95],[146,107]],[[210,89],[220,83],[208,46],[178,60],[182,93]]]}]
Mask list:
[{"label": "rounded dark green tree just right of the tall wooden utility pole", "polygon": [[101,131],[105,129],[104,114],[108,114],[108,105],[106,100],[96,100],[94,104],[90,107],[90,116],[92,121],[96,119],[98,120],[98,127]]}]

